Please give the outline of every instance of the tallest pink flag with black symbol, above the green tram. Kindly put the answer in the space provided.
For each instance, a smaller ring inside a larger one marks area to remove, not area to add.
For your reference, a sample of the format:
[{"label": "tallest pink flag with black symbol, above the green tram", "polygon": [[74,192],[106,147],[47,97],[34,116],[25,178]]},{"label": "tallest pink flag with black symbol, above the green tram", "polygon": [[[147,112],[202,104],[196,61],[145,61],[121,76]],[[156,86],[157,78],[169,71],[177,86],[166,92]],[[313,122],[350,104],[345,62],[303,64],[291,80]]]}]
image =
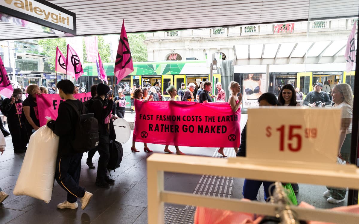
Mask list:
[{"label": "tallest pink flag with black symbol, above the green tram", "polygon": [[115,61],[115,76],[117,77],[117,84],[122,78],[134,71],[132,63],[129,40],[125,30],[125,20],[122,20],[121,37],[118,42],[117,56]]}]

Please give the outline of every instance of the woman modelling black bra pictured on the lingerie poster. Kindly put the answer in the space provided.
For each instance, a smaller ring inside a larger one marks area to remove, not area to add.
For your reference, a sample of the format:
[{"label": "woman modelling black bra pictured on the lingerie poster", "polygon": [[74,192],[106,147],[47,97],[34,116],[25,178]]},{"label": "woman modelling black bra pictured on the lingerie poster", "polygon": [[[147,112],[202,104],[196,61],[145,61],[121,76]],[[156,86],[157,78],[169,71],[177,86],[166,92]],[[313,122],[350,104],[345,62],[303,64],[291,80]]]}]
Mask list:
[{"label": "woman modelling black bra pictured on the lingerie poster", "polygon": [[247,100],[257,100],[261,95],[262,74],[244,74],[243,89]]}]

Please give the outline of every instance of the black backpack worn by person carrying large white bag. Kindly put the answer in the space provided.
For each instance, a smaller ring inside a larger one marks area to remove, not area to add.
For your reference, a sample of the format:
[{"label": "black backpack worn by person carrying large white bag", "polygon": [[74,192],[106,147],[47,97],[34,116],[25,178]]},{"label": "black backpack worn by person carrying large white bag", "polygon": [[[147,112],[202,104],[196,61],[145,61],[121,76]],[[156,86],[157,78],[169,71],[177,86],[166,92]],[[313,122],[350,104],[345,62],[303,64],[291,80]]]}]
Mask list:
[{"label": "black backpack worn by person carrying large white bag", "polygon": [[78,120],[75,126],[75,139],[71,140],[71,146],[75,152],[88,152],[91,149],[98,146],[98,123],[97,119],[93,117],[93,114],[84,114],[86,111],[85,105],[82,104],[82,114],[72,103],[65,101],[74,108],[78,114]]}]

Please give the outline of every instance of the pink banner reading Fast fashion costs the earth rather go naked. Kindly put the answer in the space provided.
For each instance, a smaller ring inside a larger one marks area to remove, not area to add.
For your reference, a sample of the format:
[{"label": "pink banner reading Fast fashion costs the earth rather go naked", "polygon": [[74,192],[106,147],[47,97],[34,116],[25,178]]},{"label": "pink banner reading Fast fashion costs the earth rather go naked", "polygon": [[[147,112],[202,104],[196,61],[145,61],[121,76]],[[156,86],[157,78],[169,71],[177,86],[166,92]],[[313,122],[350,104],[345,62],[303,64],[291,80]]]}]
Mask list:
[{"label": "pink banner reading Fast fashion costs the earth rather go naked", "polygon": [[241,110],[228,103],[135,100],[133,140],[194,147],[239,147]]}]

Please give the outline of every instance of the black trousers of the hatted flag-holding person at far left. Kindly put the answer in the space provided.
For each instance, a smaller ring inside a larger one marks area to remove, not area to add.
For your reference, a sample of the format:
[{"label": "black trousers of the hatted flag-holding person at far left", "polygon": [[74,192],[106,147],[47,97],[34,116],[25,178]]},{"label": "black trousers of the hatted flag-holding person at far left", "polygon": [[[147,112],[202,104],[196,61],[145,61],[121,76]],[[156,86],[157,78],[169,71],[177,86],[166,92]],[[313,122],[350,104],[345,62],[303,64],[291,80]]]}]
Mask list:
[{"label": "black trousers of the hatted flag-holding person at far left", "polygon": [[25,124],[20,127],[19,119],[8,118],[8,127],[11,133],[11,141],[13,142],[14,151],[23,151],[28,143]]}]

